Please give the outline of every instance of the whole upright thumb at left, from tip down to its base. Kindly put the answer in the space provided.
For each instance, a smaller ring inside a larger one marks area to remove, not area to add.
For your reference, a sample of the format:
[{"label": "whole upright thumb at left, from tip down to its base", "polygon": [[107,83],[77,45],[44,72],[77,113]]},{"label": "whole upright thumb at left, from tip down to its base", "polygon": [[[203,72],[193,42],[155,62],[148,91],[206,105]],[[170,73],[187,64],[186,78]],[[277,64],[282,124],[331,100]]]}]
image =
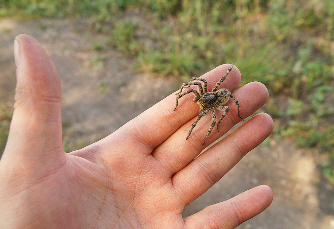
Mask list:
[{"label": "whole upright thumb at left, from tip down to its base", "polygon": [[58,72],[38,41],[28,35],[15,38],[14,56],[15,104],[3,157],[24,163],[64,157]]}]

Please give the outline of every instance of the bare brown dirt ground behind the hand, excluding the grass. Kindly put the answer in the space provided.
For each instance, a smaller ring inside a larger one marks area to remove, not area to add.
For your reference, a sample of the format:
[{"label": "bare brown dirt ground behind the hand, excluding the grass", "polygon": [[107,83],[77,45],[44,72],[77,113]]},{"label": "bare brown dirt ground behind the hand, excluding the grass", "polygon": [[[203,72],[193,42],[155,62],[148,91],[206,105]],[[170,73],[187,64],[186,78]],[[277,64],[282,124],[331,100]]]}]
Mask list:
[{"label": "bare brown dirt ground behind the hand, excluding the grass", "polygon": [[[179,87],[173,77],[136,73],[127,59],[108,48],[98,53],[85,22],[74,20],[0,20],[0,102],[13,104],[17,34],[35,37],[54,61],[61,78],[64,142],[85,146],[115,131]],[[103,56],[104,66],[94,64]],[[151,88],[148,91],[147,88]],[[152,94],[151,94],[152,93]],[[146,96],[151,94],[150,96]],[[312,150],[289,140],[262,144],[248,153],[225,177],[184,210],[184,216],[224,201],[260,184],[274,192],[271,206],[238,229],[334,229],[334,192],[323,182]]]}]

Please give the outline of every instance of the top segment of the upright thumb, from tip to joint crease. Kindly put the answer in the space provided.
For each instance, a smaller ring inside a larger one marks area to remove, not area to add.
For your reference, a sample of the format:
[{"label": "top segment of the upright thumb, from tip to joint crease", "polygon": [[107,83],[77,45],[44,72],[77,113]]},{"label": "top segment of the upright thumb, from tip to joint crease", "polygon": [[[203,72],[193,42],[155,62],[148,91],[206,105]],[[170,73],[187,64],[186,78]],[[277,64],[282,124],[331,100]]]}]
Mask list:
[{"label": "top segment of the upright thumb, from tip to joint crease", "polygon": [[[17,66],[16,101],[24,99],[27,93],[40,100],[60,100],[58,71],[35,38],[26,34],[17,35],[14,40],[14,56]],[[38,93],[31,94],[31,90]]]}]

